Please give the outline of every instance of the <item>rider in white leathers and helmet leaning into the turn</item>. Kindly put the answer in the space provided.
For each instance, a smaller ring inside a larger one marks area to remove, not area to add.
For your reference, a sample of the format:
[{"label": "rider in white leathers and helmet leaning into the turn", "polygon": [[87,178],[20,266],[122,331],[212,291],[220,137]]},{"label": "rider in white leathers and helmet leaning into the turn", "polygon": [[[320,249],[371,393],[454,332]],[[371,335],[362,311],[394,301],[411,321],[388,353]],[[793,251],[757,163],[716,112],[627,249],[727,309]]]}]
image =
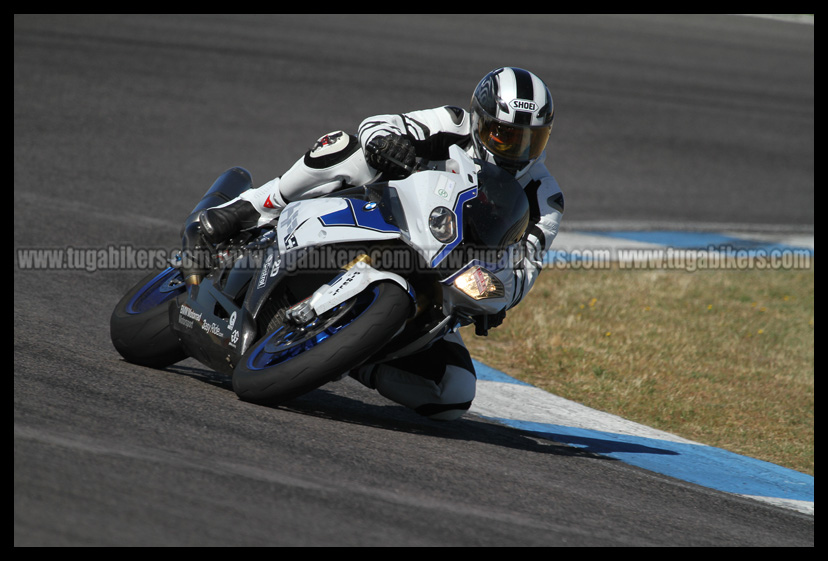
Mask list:
[{"label": "rider in white leathers and helmet leaning into the turn", "polygon": [[[563,195],[543,164],[552,128],[552,96],[535,74],[498,68],[477,85],[469,110],[445,106],[363,121],[356,135],[336,131],[320,138],[284,175],[199,214],[209,243],[275,221],[291,201],[360,186],[380,178],[399,179],[415,157],[444,160],[456,144],[513,174],[530,205],[522,262],[498,273],[511,291],[511,308],[528,293],[542,259],[558,233]],[[505,316],[505,310],[500,319]],[[493,327],[493,325],[490,325]],[[381,395],[433,419],[460,417],[471,406],[476,376],[460,334],[450,333],[426,350],[351,372]]]}]

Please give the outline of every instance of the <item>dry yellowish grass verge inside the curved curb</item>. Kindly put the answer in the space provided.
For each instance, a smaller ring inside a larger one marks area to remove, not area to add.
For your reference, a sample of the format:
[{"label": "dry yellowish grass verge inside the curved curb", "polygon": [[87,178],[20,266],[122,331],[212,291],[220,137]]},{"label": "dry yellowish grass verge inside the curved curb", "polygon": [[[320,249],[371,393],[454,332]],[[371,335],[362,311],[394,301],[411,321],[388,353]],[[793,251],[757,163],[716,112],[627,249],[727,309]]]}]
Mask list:
[{"label": "dry yellowish grass verge inside the curved curb", "polygon": [[476,359],[555,395],[814,474],[814,261],[545,270]]}]

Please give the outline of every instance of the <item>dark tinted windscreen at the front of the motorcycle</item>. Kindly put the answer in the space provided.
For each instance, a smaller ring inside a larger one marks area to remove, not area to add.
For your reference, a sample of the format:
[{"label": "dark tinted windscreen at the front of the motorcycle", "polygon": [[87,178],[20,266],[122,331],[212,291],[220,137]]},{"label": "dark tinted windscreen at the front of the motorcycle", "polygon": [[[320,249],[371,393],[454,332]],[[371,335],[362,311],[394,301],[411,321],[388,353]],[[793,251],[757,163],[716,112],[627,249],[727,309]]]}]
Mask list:
[{"label": "dark tinted windscreen at the front of the motorcycle", "polygon": [[500,251],[518,242],[529,225],[529,200],[510,173],[480,160],[477,197],[463,209],[464,245]]}]

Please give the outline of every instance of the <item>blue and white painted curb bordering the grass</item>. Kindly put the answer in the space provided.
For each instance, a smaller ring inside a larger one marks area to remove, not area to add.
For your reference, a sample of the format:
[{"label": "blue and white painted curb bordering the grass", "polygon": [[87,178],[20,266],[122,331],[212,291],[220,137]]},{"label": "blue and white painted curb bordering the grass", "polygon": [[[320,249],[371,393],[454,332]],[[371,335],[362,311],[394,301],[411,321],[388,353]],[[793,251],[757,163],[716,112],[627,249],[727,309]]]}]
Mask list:
[{"label": "blue and white painted curb bordering the grass", "polygon": [[[561,243],[558,243],[561,242]],[[689,232],[587,232],[561,234],[555,245],[560,255],[582,255],[584,248],[673,247],[745,251],[806,251],[813,255],[813,235],[741,236]],[[788,468],[686,440],[634,423],[520,382],[475,362],[477,396],[471,412],[481,417],[584,448],[649,471],[814,514],[814,478]]]}]

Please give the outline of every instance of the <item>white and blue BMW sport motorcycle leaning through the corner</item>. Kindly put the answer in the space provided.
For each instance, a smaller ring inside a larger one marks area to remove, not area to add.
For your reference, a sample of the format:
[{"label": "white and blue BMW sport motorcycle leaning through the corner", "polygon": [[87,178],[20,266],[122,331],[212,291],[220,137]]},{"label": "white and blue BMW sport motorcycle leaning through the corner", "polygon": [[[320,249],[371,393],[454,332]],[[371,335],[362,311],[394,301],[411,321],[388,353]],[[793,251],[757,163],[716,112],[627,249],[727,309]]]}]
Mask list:
[{"label": "white and blue BMW sport motorcycle leaning through the corner", "polygon": [[[452,330],[485,335],[509,302],[512,248],[529,221],[517,181],[453,146],[401,180],[287,205],[275,226],[216,246],[188,284],[180,254],[115,307],[110,333],[128,362],[186,358],[232,378],[245,401],[280,404],[362,364],[407,356]],[[252,187],[231,168],[196,205]]]}]

